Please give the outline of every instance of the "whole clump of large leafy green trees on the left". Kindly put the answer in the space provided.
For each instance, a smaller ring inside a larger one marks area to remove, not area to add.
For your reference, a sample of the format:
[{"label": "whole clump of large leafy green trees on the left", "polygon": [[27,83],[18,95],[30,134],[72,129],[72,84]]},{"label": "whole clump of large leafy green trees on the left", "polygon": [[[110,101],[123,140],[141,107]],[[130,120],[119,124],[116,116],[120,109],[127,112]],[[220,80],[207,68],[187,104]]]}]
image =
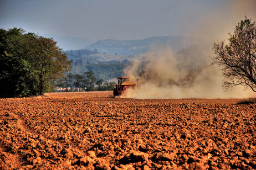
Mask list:
[{"label": "whole clump of large leafy green trees on the left", "polygon": [[68,72],[71,61],[53,39],[21,28],[0,29],[0,97],[41,95]]}]

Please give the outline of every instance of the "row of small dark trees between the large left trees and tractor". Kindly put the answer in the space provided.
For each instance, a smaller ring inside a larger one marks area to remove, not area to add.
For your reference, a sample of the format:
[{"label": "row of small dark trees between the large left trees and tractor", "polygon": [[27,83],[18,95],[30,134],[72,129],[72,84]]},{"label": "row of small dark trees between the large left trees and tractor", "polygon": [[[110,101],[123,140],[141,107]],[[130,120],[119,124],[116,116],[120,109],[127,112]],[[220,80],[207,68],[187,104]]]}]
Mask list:
[{"label": "row of small dark trees between the large left trees and tractor", "polygon": [[115,82],[104,82],[98,79],[92,71],[86,71],[83,74],[66,74],[65,77],[57,80],[58,92],[76,92],[76,91],[112,91]]}]

